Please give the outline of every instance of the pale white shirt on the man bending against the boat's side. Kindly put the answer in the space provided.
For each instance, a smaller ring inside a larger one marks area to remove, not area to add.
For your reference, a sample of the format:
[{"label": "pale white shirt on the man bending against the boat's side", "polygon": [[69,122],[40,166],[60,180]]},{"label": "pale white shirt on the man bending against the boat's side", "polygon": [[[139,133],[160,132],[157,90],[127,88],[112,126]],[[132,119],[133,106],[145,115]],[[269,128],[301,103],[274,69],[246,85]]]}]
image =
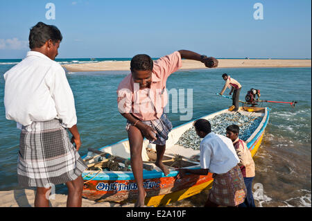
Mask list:
[{"label": "pale white shirt on the man bending against the boat's side", "polygon": [[200,142],[200,167],[210,173],[227,173],[239,163],[231,139],[211,132]]}]

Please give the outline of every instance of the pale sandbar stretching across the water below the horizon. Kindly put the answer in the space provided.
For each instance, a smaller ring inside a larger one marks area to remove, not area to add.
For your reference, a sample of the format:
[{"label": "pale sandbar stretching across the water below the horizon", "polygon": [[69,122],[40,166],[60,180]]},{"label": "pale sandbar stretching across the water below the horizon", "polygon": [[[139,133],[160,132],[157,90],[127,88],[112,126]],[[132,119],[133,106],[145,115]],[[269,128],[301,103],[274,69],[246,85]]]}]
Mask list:
[{"label": "pale sandbar stretching across the water below the horizon", "polygon": [[[220,59],[218,68],[253,68],[253,67],[311,67],[311,60],[239,60]],[[95,62],[85,64],[64,64],[67,71],[128,71],[130,61]],[[201,62],[182,60],[182,69],[205,69]]]}]

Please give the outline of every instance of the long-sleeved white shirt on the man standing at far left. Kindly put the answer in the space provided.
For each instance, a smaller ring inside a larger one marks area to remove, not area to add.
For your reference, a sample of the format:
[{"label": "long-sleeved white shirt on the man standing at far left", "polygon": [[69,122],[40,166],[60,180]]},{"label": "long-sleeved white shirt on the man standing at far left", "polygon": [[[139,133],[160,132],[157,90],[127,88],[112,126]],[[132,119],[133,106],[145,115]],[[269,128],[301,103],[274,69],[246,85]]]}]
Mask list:
[{"label": "long-sleeved white shirt on the man standing at far left", "polygon": [[46,55],[28,51],[24,60],[4,74],[6,118],[17,125],[62,120],[63,127],[77,123],[73,92],[64,69]]}]

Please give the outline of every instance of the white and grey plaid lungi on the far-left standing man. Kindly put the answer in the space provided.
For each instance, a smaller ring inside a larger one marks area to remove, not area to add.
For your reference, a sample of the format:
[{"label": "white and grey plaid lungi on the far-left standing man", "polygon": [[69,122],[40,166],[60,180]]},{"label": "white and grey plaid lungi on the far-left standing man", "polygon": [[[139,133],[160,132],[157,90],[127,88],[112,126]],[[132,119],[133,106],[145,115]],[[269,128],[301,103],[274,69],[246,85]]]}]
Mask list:
[{"label": "white and grey plaid lungi on the far-left standing man", "polygon": [[87,168],[57,119],[22,127],[17,177],[20,186],[49,188],[77,179]]}]

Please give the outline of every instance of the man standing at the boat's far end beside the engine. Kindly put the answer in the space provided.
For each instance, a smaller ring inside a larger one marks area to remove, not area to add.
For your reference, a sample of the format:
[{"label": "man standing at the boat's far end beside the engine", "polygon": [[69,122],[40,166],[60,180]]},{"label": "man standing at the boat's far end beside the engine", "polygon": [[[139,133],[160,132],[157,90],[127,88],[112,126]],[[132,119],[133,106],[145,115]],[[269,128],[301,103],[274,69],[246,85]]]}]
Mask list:
[{"label": "man standing at the boat's far end beside the engine", "polygon": [[[223,95],[225,89],[229,87],[231,91],[229,92],[229,95],[232,95],[232,105],[234,106],[233,111],[237,112],[239,110],[239,93],[241,92],[241,84],[235,80],[234,78],[231,78],[230,76],[227,76],[227,73],[223,73],[222,75],[223,80],[225,80],[225,85],[220,92],[220,95]],[[231,88],[232,87],[232,88]]]}]

